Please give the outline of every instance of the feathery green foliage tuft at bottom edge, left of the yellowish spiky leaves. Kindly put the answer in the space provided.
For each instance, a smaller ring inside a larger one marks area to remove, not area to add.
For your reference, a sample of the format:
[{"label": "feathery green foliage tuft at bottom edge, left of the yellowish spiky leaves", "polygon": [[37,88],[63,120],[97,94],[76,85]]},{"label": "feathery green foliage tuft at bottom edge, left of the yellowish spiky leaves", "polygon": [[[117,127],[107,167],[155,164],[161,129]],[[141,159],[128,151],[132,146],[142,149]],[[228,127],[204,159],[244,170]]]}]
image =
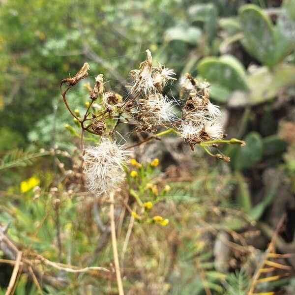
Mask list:
[{"label": "feathery green foliage tuft at bottom edge, left of the yellowish spiky leaves", "polygon": [[228,288],[226,295],[247,295],[250,286],[250,277],[245,269],[236,270],[227,279]]}]

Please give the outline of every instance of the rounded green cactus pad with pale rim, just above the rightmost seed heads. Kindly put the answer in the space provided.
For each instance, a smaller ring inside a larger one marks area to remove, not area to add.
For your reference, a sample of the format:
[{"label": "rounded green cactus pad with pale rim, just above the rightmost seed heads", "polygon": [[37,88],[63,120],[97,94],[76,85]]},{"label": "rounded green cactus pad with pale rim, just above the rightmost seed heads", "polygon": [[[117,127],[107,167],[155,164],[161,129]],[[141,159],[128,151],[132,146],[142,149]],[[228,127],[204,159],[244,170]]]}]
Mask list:
[{"label": "rounded green cactus pad with pale rim, just above the rightmost seed heads", "polygon": [[215,83],[229,90],[248,88],[243,65],[233,56],[202,59],[197,65],[197,70],[209,83]]}]

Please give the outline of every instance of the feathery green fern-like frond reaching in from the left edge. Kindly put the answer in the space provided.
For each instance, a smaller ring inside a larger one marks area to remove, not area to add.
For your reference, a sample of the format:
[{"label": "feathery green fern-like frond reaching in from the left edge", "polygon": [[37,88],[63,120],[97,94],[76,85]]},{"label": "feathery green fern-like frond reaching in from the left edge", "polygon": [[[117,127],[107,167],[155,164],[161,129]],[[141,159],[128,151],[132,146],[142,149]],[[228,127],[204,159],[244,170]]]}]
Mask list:
[{"label": "feathery green fern-like frond reaching in from the left edge", "polygon": [[49,151],[31,153],[21,149],[11,150],[0,158],[0,171],[15,167],[26,167],[33,163],[35,158],[49,155]]}]

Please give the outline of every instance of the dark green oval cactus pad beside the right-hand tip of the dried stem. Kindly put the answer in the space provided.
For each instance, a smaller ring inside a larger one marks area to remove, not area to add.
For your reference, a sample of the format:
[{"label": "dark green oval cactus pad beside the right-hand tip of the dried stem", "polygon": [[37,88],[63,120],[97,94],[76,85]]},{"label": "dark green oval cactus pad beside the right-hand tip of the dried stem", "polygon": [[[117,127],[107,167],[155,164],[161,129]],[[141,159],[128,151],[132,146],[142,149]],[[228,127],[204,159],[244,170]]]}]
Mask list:
[{"label": "dark green oval cactus pad beside the right-hand tip of the dried stem", "polygon": [[249,169],[257,164],[263,155],[262,137],[257,132],[250,132],[245,137],[245,147],[237,147],[236,154],[232,157],[234,170]]}]

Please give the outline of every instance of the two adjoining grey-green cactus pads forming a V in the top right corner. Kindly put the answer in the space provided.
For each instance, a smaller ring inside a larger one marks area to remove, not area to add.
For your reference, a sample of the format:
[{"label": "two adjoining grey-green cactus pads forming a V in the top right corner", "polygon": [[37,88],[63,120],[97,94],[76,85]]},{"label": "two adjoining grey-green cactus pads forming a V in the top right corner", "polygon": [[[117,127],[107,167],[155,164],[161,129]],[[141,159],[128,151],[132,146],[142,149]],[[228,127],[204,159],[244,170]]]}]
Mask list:
[{"label": "two adjoining grey-green cactus pads forming a V in the top right corner", "polygon": [[285,0],[274,26],[257,5],[239,10],[245,50],[258,61],[273,68],[295,49],[295,0]]}]

